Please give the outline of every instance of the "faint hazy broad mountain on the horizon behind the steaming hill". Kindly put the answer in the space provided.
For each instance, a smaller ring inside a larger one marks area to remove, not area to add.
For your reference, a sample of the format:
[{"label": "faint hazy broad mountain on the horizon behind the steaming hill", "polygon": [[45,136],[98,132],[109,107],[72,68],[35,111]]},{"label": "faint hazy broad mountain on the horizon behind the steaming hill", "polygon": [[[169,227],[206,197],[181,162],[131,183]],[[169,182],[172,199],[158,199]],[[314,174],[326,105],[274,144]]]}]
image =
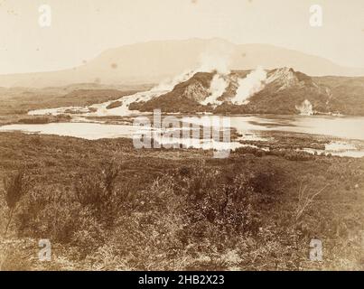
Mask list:
[{"label": "faint hazy broad mountain on the horizon behind the steaming hill", "polygon": [[184,70],[195,69],[201,63],[211,67],[227,64],[230,70],[252,70],[257,66],[268,70],[291,67],[311,76],[364,76],[364,69],[342,67],[321,57],[272,45],[190,39],[144,42],[110,49],[70,70],[0,75],[0,87],[157,83]]}]

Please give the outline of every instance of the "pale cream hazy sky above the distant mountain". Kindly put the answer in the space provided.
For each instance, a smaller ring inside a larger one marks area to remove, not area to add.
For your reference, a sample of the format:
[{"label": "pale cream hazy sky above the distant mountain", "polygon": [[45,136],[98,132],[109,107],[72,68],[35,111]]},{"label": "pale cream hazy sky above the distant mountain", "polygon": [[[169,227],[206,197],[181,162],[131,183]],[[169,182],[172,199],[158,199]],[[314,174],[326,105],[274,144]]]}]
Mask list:
[{"label": "pale cream hazy sky above the distant mountain", "polygon": [[[51,6],[51,26],[39,6]],[[323,26],[309,24],[322,5]],[[59,70],[151,40],[270,43],[364,67],[363,0],[0,0],[0,73]]]}]

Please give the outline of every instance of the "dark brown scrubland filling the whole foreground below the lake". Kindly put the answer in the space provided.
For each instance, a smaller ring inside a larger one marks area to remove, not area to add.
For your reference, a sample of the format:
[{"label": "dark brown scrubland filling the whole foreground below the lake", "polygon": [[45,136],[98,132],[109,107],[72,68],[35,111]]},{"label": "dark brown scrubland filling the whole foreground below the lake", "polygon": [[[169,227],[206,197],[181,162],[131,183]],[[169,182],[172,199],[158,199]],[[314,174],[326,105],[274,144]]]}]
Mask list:
[{"label": "dark brown scrubland filling the whole foreground below the lake", "polygon": [[[1,269],[364,268],[363,159],[211,156],[0,134]],[[309,259],[313,238],[322,262]]]}]

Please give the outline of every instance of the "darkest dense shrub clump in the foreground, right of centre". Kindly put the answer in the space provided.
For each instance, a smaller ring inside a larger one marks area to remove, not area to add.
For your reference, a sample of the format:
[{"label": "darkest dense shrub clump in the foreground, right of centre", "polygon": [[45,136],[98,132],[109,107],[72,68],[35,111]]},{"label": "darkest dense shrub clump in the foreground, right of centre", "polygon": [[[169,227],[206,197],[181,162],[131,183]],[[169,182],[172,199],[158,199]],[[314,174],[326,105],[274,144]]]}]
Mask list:
[{"label": "darkest dense shrub clump in the foreground, right of centre", "polygon": [[[186,173],[189,175],[186,176]],[[226,232],[256,234],[262,213],[276,197],[275,175],[236,172],[233,176],[203,167],[179,172],[176,194],[184,196],[182,214],[189,220],[190,233],[208,237],[200,227],[207,223]]]}]

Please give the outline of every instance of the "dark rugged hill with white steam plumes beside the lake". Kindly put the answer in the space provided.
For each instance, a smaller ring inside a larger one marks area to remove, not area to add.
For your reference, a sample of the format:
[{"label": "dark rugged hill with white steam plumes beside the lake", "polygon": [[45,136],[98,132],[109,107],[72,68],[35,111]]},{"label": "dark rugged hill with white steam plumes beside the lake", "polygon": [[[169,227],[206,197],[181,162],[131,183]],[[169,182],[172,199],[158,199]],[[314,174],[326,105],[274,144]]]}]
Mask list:
[{"label": "dark rugged hill with white steam plumes beside the lake", "polygon": [[308,106],[309,111],[304,113],[364,115],[364,78],[310,77],[290,68],[265,73],[259,87],[250,81],[250,95],[244,103],[236,101],[241,85],[238,79],[251,79],[251,70],[237,70],[227,75],[214,103],[204,103],[204,100],[213,93],[211,82],[216,72],[198,72],[177,84],[172,91],[148,101],[135,102],[129,108],[140,111],[158,108],[169,113],[293,115],[303,113],[301,107]]}]

